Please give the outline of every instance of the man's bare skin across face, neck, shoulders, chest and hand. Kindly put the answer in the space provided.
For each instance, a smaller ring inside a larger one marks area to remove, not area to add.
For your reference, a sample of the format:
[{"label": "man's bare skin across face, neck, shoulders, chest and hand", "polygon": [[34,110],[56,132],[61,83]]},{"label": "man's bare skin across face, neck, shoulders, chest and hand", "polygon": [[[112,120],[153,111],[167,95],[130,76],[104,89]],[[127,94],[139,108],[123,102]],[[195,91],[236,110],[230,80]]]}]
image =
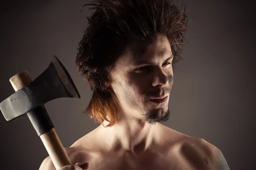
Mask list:
[{"label": "man's bare skin across face, neck, shoulders, chest and hand", "polygon": [[[217,147],[160,124],[169,119],[172,57],[162,35],[157,35],[143,55],[134,55],[131,46],[127,47],[105,82],[118,100],[117,122],[105,127],[108,122],[104,121],[65,148],[72,164],[87,162],[89,167],[86,164],[83,169],[89,170],[229,170]],[[150,101],[162,96],[167,96],[163,103]],[[49,157],[39,170],[55,170]]]}]

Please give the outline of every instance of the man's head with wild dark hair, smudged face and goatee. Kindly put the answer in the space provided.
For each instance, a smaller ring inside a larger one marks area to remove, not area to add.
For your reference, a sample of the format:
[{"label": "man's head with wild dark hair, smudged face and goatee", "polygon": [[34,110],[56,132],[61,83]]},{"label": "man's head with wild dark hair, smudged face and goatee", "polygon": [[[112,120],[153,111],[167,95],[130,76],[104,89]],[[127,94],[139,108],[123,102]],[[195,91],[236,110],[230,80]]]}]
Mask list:
[{"label": "man's head with wild dark hair, smudged face and goatee", "polygon": [[[167,120],[174,66],[182,59],[187,29],[185,11],[170,0],[87,5],[94,6],[93,12],[76,57],[76,67],[93,90],[85,112],[100,123],[110,121],[109,126],[116,122],[117,107],[149,123]],[[161,104],[150,100],[163,96],[168,97]]]}]

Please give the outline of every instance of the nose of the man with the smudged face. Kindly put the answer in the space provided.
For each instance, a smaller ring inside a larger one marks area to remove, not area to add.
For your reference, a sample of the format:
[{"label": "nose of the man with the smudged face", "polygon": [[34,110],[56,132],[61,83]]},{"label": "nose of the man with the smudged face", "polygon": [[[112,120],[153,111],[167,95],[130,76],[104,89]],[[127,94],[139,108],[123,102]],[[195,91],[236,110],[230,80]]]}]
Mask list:
[{"label": "nose of the man with the smudged face", "polygon": [[166,86],[169,83],[168,75],[162,69],[157,69],[153,75],[152,86]]}]

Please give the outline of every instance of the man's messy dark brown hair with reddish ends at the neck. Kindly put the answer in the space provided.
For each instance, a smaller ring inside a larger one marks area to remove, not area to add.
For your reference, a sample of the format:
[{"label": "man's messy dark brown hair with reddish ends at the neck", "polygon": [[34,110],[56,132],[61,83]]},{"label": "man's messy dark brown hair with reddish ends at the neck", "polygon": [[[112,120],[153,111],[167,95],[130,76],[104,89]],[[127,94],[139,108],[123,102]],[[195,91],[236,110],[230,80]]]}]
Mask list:
[{"label": "man's messy dark brown hair with reddish ends at the neck", "polygon": [[118,104],[113,89],[104,82],[118,57],[131,44],[137,44],[134,50],[143,53],[160,34],[169,40],[175,67],[175,63],[183,60],[181,45],[187,30],[186,7],[179,10],[172,0],[94,0],[84,6],[88,5],[92,6],[88,26],[76,55],[76,68],[93,90],[84,113],[98,123],[106,120],[110,122],[108,126],[113,126]]}]

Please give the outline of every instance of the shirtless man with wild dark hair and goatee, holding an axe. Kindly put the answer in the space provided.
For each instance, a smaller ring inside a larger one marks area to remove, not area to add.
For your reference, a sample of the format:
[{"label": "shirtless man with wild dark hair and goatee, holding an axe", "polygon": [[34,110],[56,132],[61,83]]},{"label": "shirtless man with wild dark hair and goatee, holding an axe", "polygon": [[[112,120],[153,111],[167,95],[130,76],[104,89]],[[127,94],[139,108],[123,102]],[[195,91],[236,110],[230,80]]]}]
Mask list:
[{"label": "shirtless man with wild dark hair and goatee, holding an axe", "polygon": [[[90,5],[76,66],[93,90],[85,113],[101,125],[65,148],[72,165],[60,170],[229,170],[217,147],[160,124],[186,13],[169,0]],[[49,157],[39,170],[55,170]]]}]

